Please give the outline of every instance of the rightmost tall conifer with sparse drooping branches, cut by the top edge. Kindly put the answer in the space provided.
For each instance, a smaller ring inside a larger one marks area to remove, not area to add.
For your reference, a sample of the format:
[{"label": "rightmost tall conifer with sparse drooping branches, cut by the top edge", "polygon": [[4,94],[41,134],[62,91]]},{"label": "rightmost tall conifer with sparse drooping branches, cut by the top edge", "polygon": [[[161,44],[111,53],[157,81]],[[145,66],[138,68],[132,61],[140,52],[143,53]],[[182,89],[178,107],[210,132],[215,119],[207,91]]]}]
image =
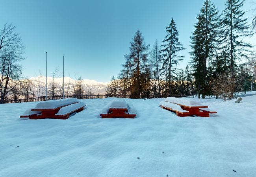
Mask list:
[{"label": "rightmost tall conifer with sparse drooping branches, cut by the top edge", "polygon": [[250,26],[244,18],[245,11],[242,11],[244,0],[227,0],[221,19],[221,50],[222,56],[227,58],[229,70],[236,67],[236,60],[248,58],[247,52],[252,46],[243,42],[243,37],[250,36]]}]

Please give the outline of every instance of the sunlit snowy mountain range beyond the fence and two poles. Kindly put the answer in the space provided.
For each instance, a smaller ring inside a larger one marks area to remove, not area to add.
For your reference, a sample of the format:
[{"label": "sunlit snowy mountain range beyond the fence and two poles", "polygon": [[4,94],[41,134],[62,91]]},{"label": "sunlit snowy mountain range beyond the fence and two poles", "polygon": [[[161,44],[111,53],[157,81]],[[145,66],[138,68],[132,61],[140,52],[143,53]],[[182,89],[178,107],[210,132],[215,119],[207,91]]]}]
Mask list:
[{"label": "sunlit snowy mountain range beyond the fence and two poles", "polygon": [[[31,77],[30,80],[32,81],[32,90],[35,93],[38,92],[39,88],[42,90],[41,93],[44,92],[43,90],[45,89],[45,81],[46,81],[45,76]],[[63,84],[63,77],[60,77],[60,78],[47,77],[48,89],[51,88],[51,85],[53,82],[55,83],[57,88],[61,89],[62,84]],[[76,83],[77,83],[77,81],[75,79],[72,79],[70,77],[64,77],[65,94],[70,94],[70,92],[72,93],[72,90]],[[107,85],[108,85],[108,82],[97,82],[95,80],[90,80],[90,79],[82,80],[83,90],[85,92],[87,92],[89,90],[89,91],[93,92],[94,94],[104,94]]]}]

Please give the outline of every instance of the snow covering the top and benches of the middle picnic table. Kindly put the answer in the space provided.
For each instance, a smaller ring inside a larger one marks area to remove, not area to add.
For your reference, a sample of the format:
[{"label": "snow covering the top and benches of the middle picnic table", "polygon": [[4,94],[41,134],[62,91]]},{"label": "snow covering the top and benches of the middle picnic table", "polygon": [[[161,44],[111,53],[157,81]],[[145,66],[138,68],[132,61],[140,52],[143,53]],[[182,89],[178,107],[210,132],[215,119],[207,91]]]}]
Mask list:
[{"label": "snow covering the top and benches of the middle picnic table", "polygon": [[129,114],[136,114],[135,107],[127,103],[124,98],[114,98],[110,103],[103,107],[100,114],[108,114],[109,108],[127,109]]}]

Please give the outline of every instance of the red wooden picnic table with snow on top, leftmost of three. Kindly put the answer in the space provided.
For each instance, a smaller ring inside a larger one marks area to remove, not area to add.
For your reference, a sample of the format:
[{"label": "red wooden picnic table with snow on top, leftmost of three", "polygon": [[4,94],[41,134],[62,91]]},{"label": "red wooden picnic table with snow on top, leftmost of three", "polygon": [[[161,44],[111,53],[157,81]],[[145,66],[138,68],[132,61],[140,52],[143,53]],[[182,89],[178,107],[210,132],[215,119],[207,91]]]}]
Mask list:
[{"label": "red wooden picnic table with snow on top, leftmost of three", "polygon": [[83,111],[86,105],[76,98],[41,101],[33,109],[28,109],[20,118],[30,119],[67,119],[75,112]]}]

